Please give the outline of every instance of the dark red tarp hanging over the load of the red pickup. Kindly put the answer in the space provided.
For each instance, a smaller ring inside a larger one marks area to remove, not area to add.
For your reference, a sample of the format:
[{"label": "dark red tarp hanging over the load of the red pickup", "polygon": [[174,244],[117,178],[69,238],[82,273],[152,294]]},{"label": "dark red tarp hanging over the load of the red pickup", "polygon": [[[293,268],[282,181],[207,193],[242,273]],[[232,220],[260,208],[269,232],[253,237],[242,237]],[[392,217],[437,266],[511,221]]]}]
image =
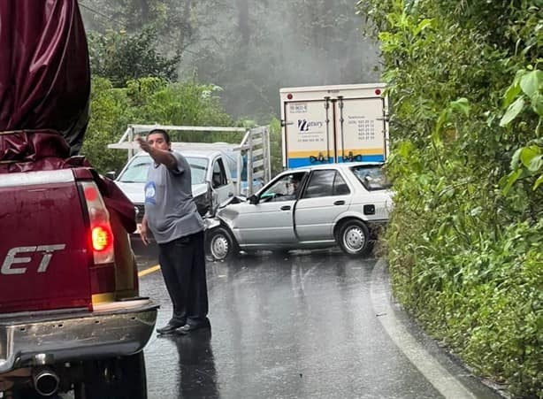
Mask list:
[{"label": "dark red tarp hanging over the load of the red pickup", "polygon": [[1,1],[0,55],[0,131],[56,130],[76,154],[90,93],[87,39],[76,1]]}]

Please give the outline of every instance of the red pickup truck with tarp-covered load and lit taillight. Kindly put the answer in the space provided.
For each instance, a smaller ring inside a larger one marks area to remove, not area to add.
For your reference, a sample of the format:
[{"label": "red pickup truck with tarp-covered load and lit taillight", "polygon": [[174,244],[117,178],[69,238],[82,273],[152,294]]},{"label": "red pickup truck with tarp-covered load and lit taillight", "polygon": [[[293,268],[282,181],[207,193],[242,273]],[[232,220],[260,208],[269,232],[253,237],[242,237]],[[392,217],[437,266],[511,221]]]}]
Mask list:
[{"label": "red pickup truck with tarp-covered load and lit taillight", "polygon": [[157,304],[134,205],[76,157],[88,53],[75,0],[0,2],[0,397],[145,398]]}]

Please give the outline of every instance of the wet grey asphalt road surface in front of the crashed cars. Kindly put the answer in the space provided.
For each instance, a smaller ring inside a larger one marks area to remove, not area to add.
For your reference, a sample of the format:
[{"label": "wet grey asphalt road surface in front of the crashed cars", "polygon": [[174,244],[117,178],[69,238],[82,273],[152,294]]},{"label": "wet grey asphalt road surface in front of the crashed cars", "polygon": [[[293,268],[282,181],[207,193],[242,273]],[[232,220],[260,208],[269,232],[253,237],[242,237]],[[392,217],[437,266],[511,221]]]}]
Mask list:
[{"label": "wet grey asphalt road surface in front of the crashed cars", "polygon": [[[139,268],[157,248],[134,242]],[[498,398],[390,301],[375,257],[295,251],[208,262],[211,331],[154,336],[145,349],[150,399]],[[171,316],[161,273],[141,295]]]}]

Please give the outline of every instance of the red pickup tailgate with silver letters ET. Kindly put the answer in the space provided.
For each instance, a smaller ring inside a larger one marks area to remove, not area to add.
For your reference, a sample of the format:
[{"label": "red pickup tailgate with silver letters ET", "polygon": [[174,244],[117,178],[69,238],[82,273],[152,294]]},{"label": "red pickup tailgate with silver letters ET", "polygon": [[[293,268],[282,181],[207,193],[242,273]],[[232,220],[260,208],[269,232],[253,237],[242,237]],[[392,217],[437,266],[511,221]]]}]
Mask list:
[{"label": "red pickup tailgate with silver letters ET", "polygon": [[0,313],[90,309],[86,212],[70,169],[0,179]]}]

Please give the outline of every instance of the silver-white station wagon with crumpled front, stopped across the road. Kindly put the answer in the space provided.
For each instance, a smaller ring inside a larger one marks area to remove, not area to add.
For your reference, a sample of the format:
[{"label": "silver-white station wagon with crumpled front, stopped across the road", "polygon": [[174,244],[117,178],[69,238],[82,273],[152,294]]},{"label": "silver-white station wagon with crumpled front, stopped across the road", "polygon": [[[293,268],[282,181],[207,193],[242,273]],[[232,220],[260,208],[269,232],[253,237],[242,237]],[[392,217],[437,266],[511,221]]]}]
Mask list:
[{"label": "silver-white station wagon with crumpled front, stopped across the road", "polygon": [[207,232],[215,260],[240,250],[315,249],[339,245],[352,256],[371,250],[386,224],[392,192],[378,163],[325,164],[279,173],[247,199],[221,207]]}]

